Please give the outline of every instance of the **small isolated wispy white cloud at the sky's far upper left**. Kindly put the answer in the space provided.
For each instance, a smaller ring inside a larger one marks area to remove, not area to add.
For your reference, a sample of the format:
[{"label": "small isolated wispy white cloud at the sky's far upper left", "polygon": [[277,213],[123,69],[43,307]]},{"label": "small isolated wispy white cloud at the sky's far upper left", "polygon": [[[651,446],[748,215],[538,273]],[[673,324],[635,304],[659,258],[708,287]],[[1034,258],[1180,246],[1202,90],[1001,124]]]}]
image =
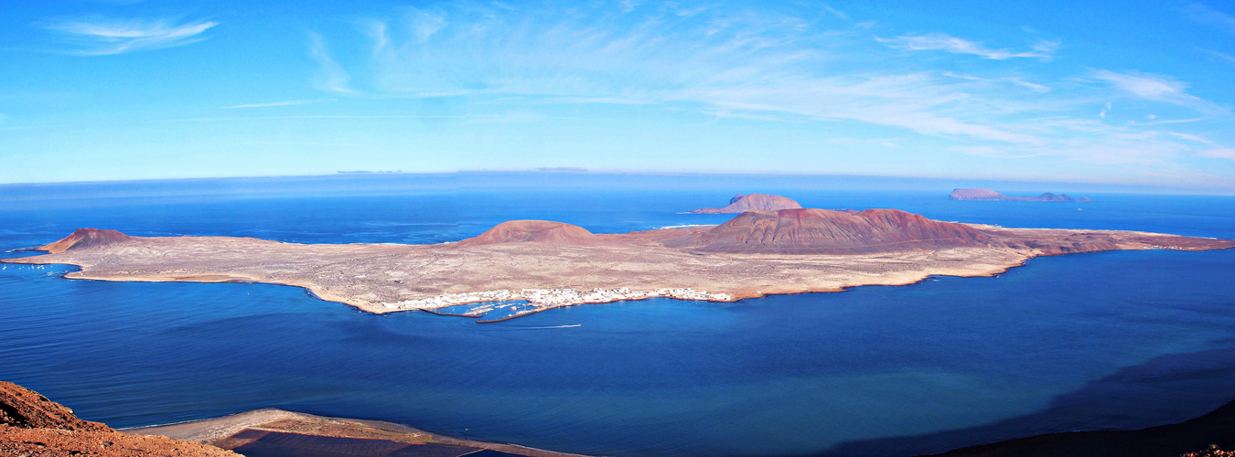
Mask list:
[{"label": "small isolated wispy white cloud at the sky's far upper left", "polygon": [[175,19],[110,19],[86,16],[40,22],[62,36],[78,56],[110,56],[136,51],[163,49],[205,40],[204,32],[215,21],[180,22]]}]

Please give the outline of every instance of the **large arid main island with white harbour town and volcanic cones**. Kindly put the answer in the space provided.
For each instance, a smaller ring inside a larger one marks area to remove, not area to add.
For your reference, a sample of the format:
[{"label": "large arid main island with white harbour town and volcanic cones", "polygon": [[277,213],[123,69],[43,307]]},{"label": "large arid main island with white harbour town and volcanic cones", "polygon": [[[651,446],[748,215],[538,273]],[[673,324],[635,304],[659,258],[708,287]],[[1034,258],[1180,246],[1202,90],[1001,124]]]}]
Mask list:
[{"label": "large arid main island with white harbour town and volcanic cones", "polygon": [[1108,230],[1005,228],[894,209],[752,210],[715,226],[593,233],[508,221],[442,245],[300,245],[225,236],[136,237],[80,228],[47,254],[65,278],[257,282],[369,312],[425,310],[495,321],[647,298],[735,301],[768,294],[990,277],[1039,256],[1113,249],[1226,249],[1235,241]]}]

